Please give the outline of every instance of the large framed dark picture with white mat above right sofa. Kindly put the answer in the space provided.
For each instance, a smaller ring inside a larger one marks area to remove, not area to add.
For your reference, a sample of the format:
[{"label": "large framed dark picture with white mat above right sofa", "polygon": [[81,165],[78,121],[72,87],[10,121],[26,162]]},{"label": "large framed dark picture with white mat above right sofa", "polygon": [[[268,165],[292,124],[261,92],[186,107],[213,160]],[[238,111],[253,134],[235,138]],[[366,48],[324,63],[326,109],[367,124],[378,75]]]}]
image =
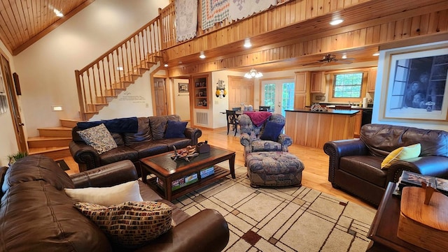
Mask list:
[{"label": "large framed dark picture with white mat above right sofa", "polygon": [[384,119],[448,121],[447,72],[447,47],[386,53]]}]

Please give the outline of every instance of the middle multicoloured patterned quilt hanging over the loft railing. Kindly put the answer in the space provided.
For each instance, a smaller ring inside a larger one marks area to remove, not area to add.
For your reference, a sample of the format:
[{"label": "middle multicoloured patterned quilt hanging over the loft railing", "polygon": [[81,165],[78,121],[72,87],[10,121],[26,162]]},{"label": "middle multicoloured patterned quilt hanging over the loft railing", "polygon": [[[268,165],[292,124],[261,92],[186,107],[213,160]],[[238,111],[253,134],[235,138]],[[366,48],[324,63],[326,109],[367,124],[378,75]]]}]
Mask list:
[{"label": "middle multicoloured patterned quilt hanging over the loft railing", "polygon": [[229,1],[232,0],[202,0],[203,30],[229,17]]}]

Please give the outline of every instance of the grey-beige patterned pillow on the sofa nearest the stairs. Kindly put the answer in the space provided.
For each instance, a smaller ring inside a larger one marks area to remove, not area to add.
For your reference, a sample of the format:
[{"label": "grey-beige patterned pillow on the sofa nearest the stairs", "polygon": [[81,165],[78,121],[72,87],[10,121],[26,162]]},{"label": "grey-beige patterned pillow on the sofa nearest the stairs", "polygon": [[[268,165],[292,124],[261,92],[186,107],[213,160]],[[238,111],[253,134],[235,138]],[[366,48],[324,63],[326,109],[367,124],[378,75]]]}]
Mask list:
[{"label": "grey-beige patterned pillow on the sofa nearest the stairs", "polygon": [[86,144],[89,144],[93,149],[98,151],[98,154],[103,154],[117,147],[117,143],[113,140],[111,133],[104,124],[77,132]]}]

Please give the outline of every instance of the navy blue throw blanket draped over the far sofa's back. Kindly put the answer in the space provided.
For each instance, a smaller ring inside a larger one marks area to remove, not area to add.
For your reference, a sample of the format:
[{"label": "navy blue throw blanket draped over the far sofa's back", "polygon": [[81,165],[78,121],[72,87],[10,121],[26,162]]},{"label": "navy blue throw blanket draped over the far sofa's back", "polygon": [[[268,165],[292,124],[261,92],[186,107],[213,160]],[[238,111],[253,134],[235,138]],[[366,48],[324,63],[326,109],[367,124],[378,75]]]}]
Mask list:
[{"label": "navy blue throw blanket draped over the far sofa's back", "polygon": [[108,131],[114,133],[137,133],[139,130],[139,121],[137,117],[128,117],[128,118],[118,118],[118,119],[110,119],[110,120],[101,120],[101,121],[80,121],[78,124],[78,128],[92,128],[94,126],[98,126],[99,124],[104,124]]}]

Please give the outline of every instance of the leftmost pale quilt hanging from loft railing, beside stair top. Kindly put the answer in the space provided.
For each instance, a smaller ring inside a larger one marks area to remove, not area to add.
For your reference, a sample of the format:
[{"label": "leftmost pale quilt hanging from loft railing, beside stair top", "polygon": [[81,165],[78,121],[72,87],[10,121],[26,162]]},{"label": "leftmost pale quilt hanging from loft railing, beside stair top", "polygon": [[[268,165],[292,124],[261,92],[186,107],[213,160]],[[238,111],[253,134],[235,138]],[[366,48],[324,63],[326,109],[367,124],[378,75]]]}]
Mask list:
[{"label": "leftmost pale quilt hanging from loft railing, beside stair top", "polygon": [[181,42],[196,36],[197,0],[176,0],[176,39]]}]

